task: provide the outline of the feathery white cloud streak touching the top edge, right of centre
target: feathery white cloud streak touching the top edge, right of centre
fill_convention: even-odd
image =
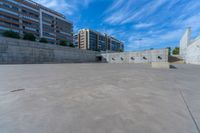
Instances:
[[[115,3],[112,5],[108,11],[110,11],[111,15],[109,14],[105,18],[105,22],[109,24],[126,24],[133,22],[134,20],[138,20],[142,17],[146,17],[150,14],[153,14],[157,9],[168,2],[167,0],[156,0],[156,1],[150,1],[149,3],[144,4],[140,9],[136,9],[135,7],[135,1],[134,0],[127,0],[122,3],[122,0],[120,0],[120,3],[123,5],[119,5],[118,3]],[[121,9],[114,10],[116,8],[121,7]]]

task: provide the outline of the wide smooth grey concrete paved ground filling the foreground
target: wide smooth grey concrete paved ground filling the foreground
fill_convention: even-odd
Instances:
[[[0,66],[0,133],[199,133],[198,127],[200,66]]]

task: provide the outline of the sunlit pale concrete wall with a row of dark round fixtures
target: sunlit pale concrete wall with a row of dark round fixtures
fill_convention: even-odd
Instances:
[[[147,50],[142,52],[101,54],[108,63],[151,63],[168,62],[168,50]]]

